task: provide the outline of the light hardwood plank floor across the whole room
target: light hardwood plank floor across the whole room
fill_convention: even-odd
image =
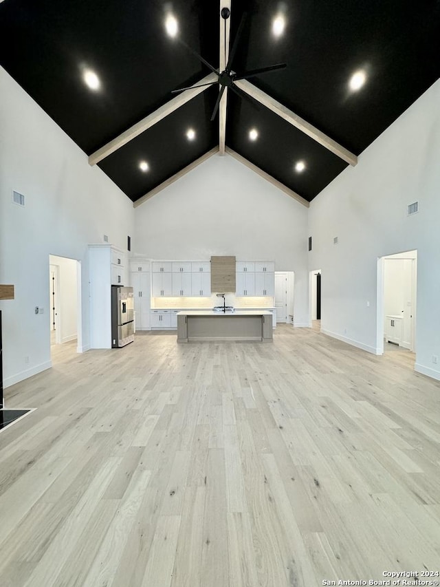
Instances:
[[[6,389],[1,587],[315,587],[439,570],[440,385],[281,325],[53,348]]]

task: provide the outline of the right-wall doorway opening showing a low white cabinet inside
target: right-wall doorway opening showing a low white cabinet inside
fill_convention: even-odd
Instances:
[[[378,268],[377,352],[415,352],[417,250],[381,257]]]

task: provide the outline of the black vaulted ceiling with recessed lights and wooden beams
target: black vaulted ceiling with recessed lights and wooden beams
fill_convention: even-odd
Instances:
[[[222,71],[243,14],[232,72],[287,67],[237,81],[211,121],[218,83],[171,92],[217,79],[190,49]],[[219,145],[310,202],[439,78],[439,57],[439,0],[0,0],[0,64],[133,202]]]

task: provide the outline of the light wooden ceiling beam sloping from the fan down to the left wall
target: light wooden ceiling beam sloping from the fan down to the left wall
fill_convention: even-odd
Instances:
[[[151,114],[148,114],[148,116],[142,118],[142,120],[140,120],[139,122],[136,122],[135,125],[124,131],[116,138],[113,138],[113,140],[111,140],[110,142],[107,142],[107,145],[104,145],[104,147],[101,147],[100,149],[98,149],[98,151],[91,153],[91,156],[89,156],[89,164],[96,165],[97,163],[102,161],[102,159],[105,159],[106,157],[111,155],[111,153],[114,153],[115,151],[120,149],[120,147],[126,145],[127,142],[130,142],[133,138],[142,134],[144,131],[146,131],[146,129],[153,127],[153,125],[159,122],[159,120],[162,120],[163,118],[168,116],[168,114],[171,114],[172,112],[177,110],[177,108],[180,108],[181,106],[189,102],[189,100],[192,100],[192,98],[195,98],[195,96],[198,96],[199,94],[201,94],[201,92],[204,92],[206,89],[211,87],[210,85],[197,87],[198,85],[202,83],[216,82],[217,79],[218,78],[216,74],[209,74],[208,76],[204,77],[203,79],[192,85],[191,89],[187,89],[185,92],[177,94],[175,98],[173,98],[166,104],[162,105],[161,107],[157,108],[157,110],[155,110]]]

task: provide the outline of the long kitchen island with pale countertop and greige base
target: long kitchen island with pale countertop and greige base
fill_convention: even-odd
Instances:
[[[177,342],[272,342],[272,313],[267,310],[182,311],[177,314]]]

